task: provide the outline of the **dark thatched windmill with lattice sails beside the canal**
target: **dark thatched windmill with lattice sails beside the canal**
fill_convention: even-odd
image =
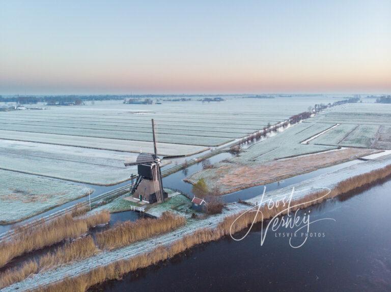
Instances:
[[[135,183],[132,183],[130,190],[131,196],[140,201],[148,201],[150,204],[164,202],[167,193],[163,190],[160,165],[161,160],[169,158],[168,156],[159,158],[157,156],[155,123],[152,119],[152,136],[154,154],[140,153],[135,161],[126,161],[125,166],[137,166],[137,177]]]

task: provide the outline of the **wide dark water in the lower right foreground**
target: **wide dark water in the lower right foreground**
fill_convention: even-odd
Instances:
[[[278,235],[297,228],[268,231],[261,246],[259,223],[242,241],[202,244],[90,291],[390,291],[390,209],[388,180],[299,211],[335,220],[311,224],[300,248]]]

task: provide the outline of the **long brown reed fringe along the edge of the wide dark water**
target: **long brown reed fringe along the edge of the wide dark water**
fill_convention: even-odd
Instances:
[[[293,207],[290,210],[293,211],[297,208],[305,208],[310,205],[320,203],[328,198],[336,197],[339,194],[349,192],[365,185],[376,183],[377,181],[384,179],[390,175],[391,165],[388,165],[382,169],[354,176],[338,183],[336,187],[334,187],[331,192],[327,194],[327,196],[325,196],[327,192],[318,191],[311,193],[309,194],[309,196],[305,196],[304,198],[295,200],[294,202],[292,202],[293,204],[291,205],[296,205],[296,207]],[[273,209],[263,207],[263,219],[265,220],[271,218],[275,214],[282,212],[285,208],[286,207],[282,205]],[[238,217],[239,219],[237,219]],[[83,292],[86,291],[89,287],[92,287],[104,281],[121,279],[121,277],[126,273],[157,264],[158,262],[170,258],[195,245],[218,240],[219,238],[230,233],[233,234],[235,232],[241,231],[242,229],[246,228],[248,224],[252,223],[253,220],[254,214],[250,212],[241,212],[235,215],[231,215],[226,217],[220,224],[217,225],[215,229],[203,229],[196,231],[191,235],[185,236],[175,241],[168,248],[164,246],[158,246],[151,252],[135,256],[131,259],[117,261],[107,266],[100,266],[86,274],[82,274],[73,278],[65,278],[62,281],[50,284],[48,286],[39,287],[35,290],[40,292]],[[258,220],[256,221],[260,220],[261,217],[258,216]]]

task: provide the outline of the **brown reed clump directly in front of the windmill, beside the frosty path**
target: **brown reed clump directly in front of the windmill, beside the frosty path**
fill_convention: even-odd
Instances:
[[[99,248],[114,249],[174,230],[184,224],[186,224],[184,217],[164,212],[157,219],[146,218],[119,223],[109,230],[97,233],[95,238]]]

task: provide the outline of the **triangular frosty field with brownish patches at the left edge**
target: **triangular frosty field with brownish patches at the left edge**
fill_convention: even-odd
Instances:
[[[0,223],[20,221],[85,196],[90,189],[71,182],[0,170]]]

